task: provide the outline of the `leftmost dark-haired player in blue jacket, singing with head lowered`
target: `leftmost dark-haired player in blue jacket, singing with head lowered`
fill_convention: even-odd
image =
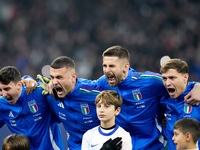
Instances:
[[[36,88],[26,94],[21,74],[14,66],[0,70],[0,127],[8,126],[12,133],[23,134],[30,141],[31,150],[64,150],[59,124],[51,115],[47,99]]]

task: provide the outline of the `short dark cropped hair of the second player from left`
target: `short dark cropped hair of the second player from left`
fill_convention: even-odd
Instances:
[[[75,69],[75,62],[67,56],[60,56],[53,60],[51,67],[54,69],[60,69],[63,67]]]

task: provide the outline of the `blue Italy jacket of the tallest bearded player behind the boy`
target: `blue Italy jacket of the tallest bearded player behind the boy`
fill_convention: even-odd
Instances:
[[[109,87],[106,77],[97,80],[99,88],[114,89],[123,99],[116,123],[128,131],[132,137],[133,150],[161,150],[160,130],[156,117],[159,114],[159,100],[167,94],[160,74],[135,72],[129,74],[117,87]]]

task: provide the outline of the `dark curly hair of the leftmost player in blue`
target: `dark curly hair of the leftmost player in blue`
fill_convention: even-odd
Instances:
[[[0,70],[0,82],[2,84],[9,84],[14,82],[15,84],[21,81],[21,73],[15,66],[6,66]]]

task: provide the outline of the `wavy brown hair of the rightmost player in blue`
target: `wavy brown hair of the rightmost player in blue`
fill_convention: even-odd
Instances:
[[[176,69],[178,73],[188,73],[188,64],[181,59],[170,59],[160,68],[161,73],[166,73],[169,69]]]

